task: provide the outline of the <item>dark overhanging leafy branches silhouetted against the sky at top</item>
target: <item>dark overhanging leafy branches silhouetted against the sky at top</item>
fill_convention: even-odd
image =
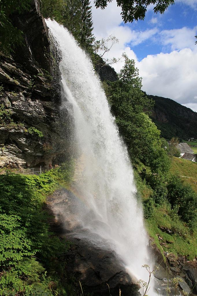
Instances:
[[[96,8],[105,9],[112,0],[95,0]],[[134,20],[143,20],[145,18],[147,7],[154,5],[155,13],[164,13],[169,5],[174,4],[175,0],[117,0],[117,6],[122,9],[121,15],[123,21],[133,22]]]

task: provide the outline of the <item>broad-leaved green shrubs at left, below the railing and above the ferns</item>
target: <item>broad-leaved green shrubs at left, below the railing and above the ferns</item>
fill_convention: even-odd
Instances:
[[[40,180],[38,176],[0,176],[2,267],[13,266],[22,258],[36,253],[50,258],[60,251],[59,239],[51,237],[47,214],[42,210],[44,197],[41,192],[52,192],[50,183],[54,186],[54,181],[48,176],[41,176]]]

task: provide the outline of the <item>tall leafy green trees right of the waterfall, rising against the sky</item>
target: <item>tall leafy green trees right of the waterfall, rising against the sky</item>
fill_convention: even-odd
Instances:
[[[142,79],[134,60],[125,56],[119,80],[111,83],[109,103],[134,164],[143,163],[152,172],[169,168],[167,152],[162,148],[160,131],[149,118],[152,100],[141,91]]]

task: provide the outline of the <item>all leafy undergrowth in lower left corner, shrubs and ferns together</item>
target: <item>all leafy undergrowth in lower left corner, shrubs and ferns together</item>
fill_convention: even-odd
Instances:
[[[0,175],[0,295],[72,295],[61,258],[70,243],[50,232],[43,210],[71,172],[65,164],[40,176]]]

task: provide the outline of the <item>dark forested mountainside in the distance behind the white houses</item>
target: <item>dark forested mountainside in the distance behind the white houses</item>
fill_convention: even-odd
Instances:
[[[178,137],[180,141],[197,138],[197,113],[161,96],[148,95],[154,101],[152,120],[167,140]]]

